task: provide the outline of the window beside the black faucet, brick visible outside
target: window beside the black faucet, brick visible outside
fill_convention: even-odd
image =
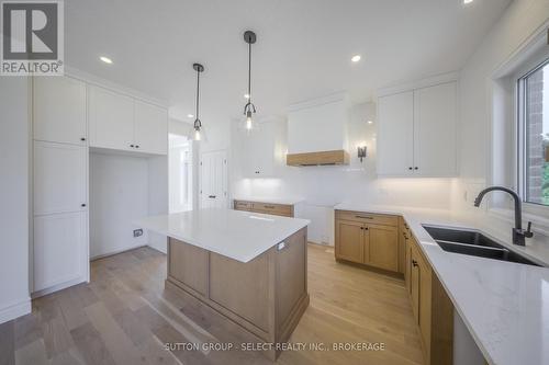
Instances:
[[[518,183],[527,203],[549,205],[549,59],[517,81]]]

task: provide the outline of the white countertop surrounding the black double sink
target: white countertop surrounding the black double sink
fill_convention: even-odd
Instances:
[[[490,364],[549,364],[548,267],[444,251],[422,224],[471,227],[453,218],[449,210],[356,203],[338,204],[334,208],[403,216]],[[491,235],[489,227],[471,228],[480,228]],[[508,243],[505,246],[528,252],[534,259],[535,254],[528,247],[517,249]],[[542,254],[536,261],[549,265],[545,251],[536,249],[536,252]]]

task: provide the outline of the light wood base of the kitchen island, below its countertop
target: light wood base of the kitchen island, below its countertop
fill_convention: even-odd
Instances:
[[[284,343],[309,306],[306,228],[243,263],[169,239],[166,287],[190,294],[253,334]],[[276,360],[280,350],[267,350]]]

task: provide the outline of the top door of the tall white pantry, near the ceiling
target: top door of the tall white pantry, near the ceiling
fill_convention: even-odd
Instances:
[[[33,82],[34,139],[86,146],[86,83],[68,77]]]

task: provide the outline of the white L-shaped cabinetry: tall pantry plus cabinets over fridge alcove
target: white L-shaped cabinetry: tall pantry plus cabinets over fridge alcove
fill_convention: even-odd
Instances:
[[[166,107],[71,77],[33,80],[33,296],[89,281],[89,152],[167,155]],[[89,132],[89,133],[88,133]]]

